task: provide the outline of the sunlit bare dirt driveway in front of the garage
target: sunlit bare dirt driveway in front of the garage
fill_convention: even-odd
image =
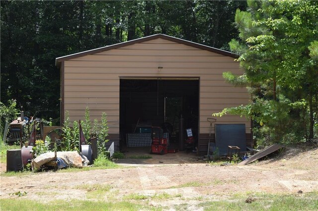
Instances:
[[[0,198],[17,198],[10,194],[25,191],[27,199],[42,202],[87,199],[87,190],[80,187],[100,184],[111,187],[103,196],[105,200],[114,195],[116,200],[121,200],[130,194],[166,193],[182,196],[182,199],[167,200],[166,205],[184,204],[186,200],[189,206],[194,206],[190,210],[197,210],[199,208],[195,206],[199,201],[226,199],[233,194],[292,194],[299,190],[318,190],[318,148],[289,148],[276,158],[246,166],[213,165],[197,160],[195,155],[174,156],[171,160],[153,156],[143,160],[142,164],[136,164],[134,159],[127,159],[130,163],[120,160],[122,165],[133,166],[130,168],[1,176]],[[51,193],[50,197],[44,193]],[[150,203],[157,206],[156,201]]]

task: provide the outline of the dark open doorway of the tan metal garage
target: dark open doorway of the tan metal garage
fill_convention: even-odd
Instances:
[[[198,140],[198,118],[199,78],[120,79],[121,146],[151,147],[151,128],[161,127],[168,149],[184,150],[186,129]]]

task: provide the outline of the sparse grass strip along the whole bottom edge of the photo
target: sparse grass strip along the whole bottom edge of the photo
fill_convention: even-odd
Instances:
[[[19,199],[0,199],[1,209],[3,210],[65,210],[65,211],[76,211],[76,210],[161,210],[160,205],[151,205],[149,200],[156,200],[164,205],[166,200],[173,200],[175,198],[182,197],[181,194],[170,195],[166,193],[155,194],[154,196],[148,196],[143,194],[129,194],[124,196],[123,200],[107,202],[101,200],[104,198],[103,194],[96,194],[96,191],[103,190],[103,193],[107,193],[107,187],[79,187],[87,188],[93,192],[96,196],[93,201],[91,200],[54,200],[51,202],[37,202],[27,200],[25,197],[21,196]],[[24,199],[23,199],[24,198]],[[250,203],[246,202],[246,199],[251,199]],[[214,210],[233,210],[233,211],[301,211],[301,210],[317,210],[318,209],[318,193],[303,193],[301,195],[291,194],[291,195],[281,195],[281,194],[247,194],[239,193],[230,198],[223,198],[217,200],[207,200],[202,197],[196,197],[195,200],[201,203],[196,205],[196,208],[203,208],[206,211]],[[132,201],[133,200],[133,201]],[[182,208],[187,209],[189,206],[193,209],[193,205],[190,203],[185,203],[175,207],[176,210]],[[166,209],[169,209],[168,207]]]

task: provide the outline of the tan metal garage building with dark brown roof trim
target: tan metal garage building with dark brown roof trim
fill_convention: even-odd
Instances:
[[[211,113],[247,104],[244,87],[225,82],[222,73],[241,74],[236,54],[157,34],[112,46],[56,58],[61,70],[61,121],[90,109],[91,118],[107,112],[109,139],[126,145],[136,126],[168,122],[177,137],[180,117],[198,139],[198,154],[207,151]],[[250,121],[239,116],[217,118],[218,124],[245,124],[252,145]],[[214,141],[214,125],[212,141]]]

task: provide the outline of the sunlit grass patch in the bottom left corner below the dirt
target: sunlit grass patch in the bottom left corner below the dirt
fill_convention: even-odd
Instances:
[[[106,201],[90,201],[90,200],[54,200],[52,202],[36,202],[26,199],[0,199],[1,210],[17,211],[119,211],[119,210],[157,210],[149,205],[141,205],[131,202],[106,202]]]

